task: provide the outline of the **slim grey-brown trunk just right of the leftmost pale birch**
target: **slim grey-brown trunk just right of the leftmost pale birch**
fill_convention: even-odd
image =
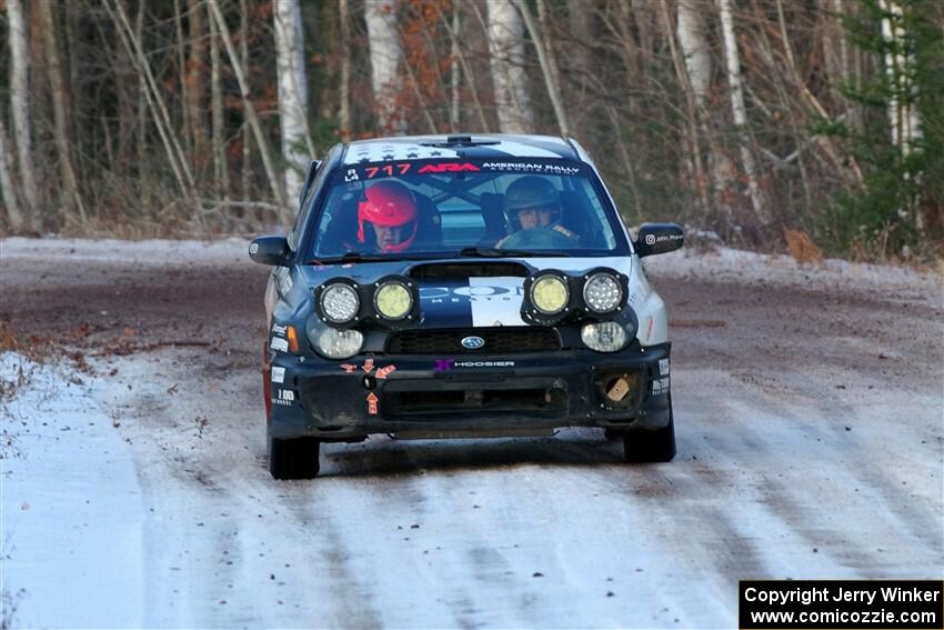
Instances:
[[[82,203],[82,197],[79,193],[79,183],[72,167],[69,123],[66,117],[66,82],[62,78],[62,66],[59,59],[59,49],[56,44],[58,39],[56,34],[56,22],[52,19],[52,9],[54,6],[51,2],[38,2],[37,7],[42,22],[46,67],[49,74],[49,83],[52,88],[53,136],[56,138],[56,149],[59,153],[59,170],[62,176],[62,183],[66,186],[67,203],[69,206],[72,203],[76,204],[80,221],[86,223],[88,221],[86,206]]]

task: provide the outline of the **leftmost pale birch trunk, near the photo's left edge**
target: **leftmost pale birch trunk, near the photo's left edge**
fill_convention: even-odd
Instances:
[[[23,6],[20,0],[7,0],[7,22],[10,34],[10,110],[13,118],[13,142],[17,147],[20,182],[30,227],[40,232],[42,221],[39,216],[30,131],[30,56]]]

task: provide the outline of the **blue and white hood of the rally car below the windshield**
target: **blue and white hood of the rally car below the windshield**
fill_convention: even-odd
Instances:
[[[358,283],[375,282],[389,276],[409,277],[410,270],[431,263],[490,263],[516,262],[531,272],[558,269],[580,273],[607,267],[627,277],[632,276],[630,257],[609,258],[525,258],[525,259],[462,259],[360,262],[354,264],[305,266],[300,272],[312,288],[333,278],[351,278]],[[521,319],[524,298],[524,278],[488,276],[470,278],[426,278],[415,280],[420,288],[420,328],[479,328],[494,326],[525,326]]]

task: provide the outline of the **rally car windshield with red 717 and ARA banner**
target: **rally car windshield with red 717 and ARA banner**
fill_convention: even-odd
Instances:
[[[313,261],[627,252],[602,184],[581,162],[366,162],[332,177],[310,232]]]

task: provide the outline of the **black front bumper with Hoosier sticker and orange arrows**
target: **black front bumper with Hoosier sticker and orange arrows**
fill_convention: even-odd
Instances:
[[[345,361],[280,353],[270,368],[281,382],[271,382],[269,436],[344,441],[370,433],[659,429],[670,419],[670,343],[633,343],[612,354],[574,349],[505,357],[359,354]]]

